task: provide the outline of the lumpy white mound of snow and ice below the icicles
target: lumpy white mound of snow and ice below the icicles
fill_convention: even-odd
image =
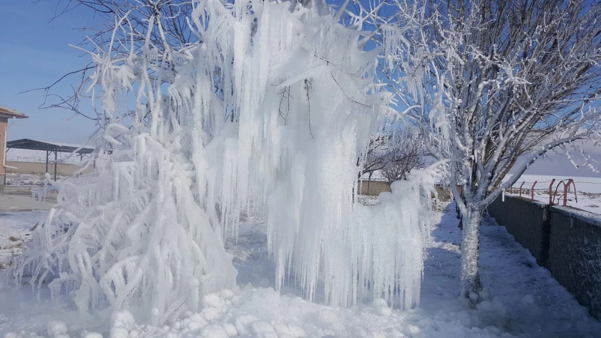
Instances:
[[[163,327],[118,324],[111,337],[497,337],[496,328],[468,328],[459,319],[391,310],[386,301],[353,309],[320,306],[273,289],[222,290],[203,298],[200,313]],[[118,333],[118,334],[117,334]]]

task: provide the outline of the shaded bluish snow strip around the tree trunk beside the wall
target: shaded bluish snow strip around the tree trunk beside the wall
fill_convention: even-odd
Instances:
[[[538,266],[505,227],[485,217],[481,228],[480,277],[485,300],[466,310],[456,300],[462,232],[454,204],[436,213],[428,250],[421,309],[432,318],[496,328],[525,337],[601,337],[601,324],[578,304],[551,272]]]

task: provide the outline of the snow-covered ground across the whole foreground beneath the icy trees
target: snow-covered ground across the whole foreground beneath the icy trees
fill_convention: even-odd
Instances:
[[[16,214],[0,215],[0,227],[26,230],[44,212]],[[238,240],[227,242],[239,287],[206,295],[200,313],[161,327],[136,323],[128,312],[82,318],[66,301],[50,301],[45,290],[37,301],[29,287],[0,284],[0,337],[601,337],[601,324],[587,309],[490,219],[481,239],[484,301],[467,309],[457,299],[461,230],[454,206],[433,211],[433,224],[418,309],[389,309],[382,300],[323,306],[299,298],[293,284],[275,292],[266,225],[248,220]]]

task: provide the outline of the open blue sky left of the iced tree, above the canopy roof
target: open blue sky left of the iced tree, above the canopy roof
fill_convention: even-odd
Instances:
[[[66,143],[80,143],[94,130],[93,121],[73,116],[64,109],[37,109],[43,103],[42,91],[18,94],[32,88],[46,87],[64,74],[84,67],[87,55],[69,46],[85,35],[75,28],[93,22],[90,12],[81,8],[50,22],[58,1],[0,1],[0,105],[28,115],[8,130],[8,140],[32,138]],[[71,82],[56,88],[69,93]]]

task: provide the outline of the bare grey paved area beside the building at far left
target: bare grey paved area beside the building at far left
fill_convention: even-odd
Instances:
[[[41,186],[4,186],[0,187],[0,212],[50,210],[56,203],[56,191],[46,192],[42,200],[32,198],[32,189],[41,190]]]

